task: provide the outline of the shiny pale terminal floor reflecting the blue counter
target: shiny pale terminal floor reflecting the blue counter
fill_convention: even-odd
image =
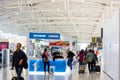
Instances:
[[[15,72],[13,72],[14,74]],[[14,74],[15,75],[15,74]],[[25,77],[25,72],[23,72],[23,76]],[[0,69],[0,78],[2,80],[10,80],[12,77],[11,71],[9,68]],[[1,80],[1,79],[0,79]],[[101,73],[88,73],[79,74],[77,67],[74,66],[74,69],[71,73],[67,75],[29,75],[28,79],[25,80],[111,80],[107,75],[103,72]]]

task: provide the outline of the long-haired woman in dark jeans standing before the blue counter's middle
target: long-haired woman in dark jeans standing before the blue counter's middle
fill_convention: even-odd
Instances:
[[[45,48],[42,53],[42,59],[44,62],[44,72],[46,74],[46,65],[48,65],[48,74],[50,74],[50,62],[49,62],[49,54],[47,52],[47,49]]]

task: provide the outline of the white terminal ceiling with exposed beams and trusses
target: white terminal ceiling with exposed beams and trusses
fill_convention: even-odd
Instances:
[[[0,30],[55,32],[90,42],[119,7],[119,0],[0,0]]]

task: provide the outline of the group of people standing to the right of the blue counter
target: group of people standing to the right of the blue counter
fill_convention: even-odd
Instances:
[[[72,70],[72,61],[74,59],[75,54],[72,51],[68,51],[67,54],[68,66]],[[98,58],[94,50],[90,49],[89,51],[84,51],[82,49],[76,55],[76,59],[79,62],[79,68],[81,65],[88,64],[89,72],[95,71],[96,63],[98,63]]]

